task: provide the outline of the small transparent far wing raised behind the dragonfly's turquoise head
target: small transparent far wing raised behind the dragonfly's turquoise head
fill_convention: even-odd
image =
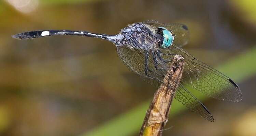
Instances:
[[[174,34],[173,43],[176,46],[182,47],[188,43],[189,40],[189,31],[186,25],[180,23],[162,23],[154,20],[144,21],[144,24],[149,25],[150,27],[154,27],[153,29],[157,29],[159,27],[165,27],[169,31],[172,31]]]

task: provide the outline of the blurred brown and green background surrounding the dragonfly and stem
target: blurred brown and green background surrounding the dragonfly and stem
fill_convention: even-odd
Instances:
[[[101,39],[54,36],[16,40],[32,30],[117,34],[134,22],[184,23],[184,47],[238,83],[243,101],[193,91],[209,122],[174,101],[164,136],[256,135],[255,0],[1,0],[0,135],[136,136],[157,88]],[[168,129],[169,128],[169,129]]]

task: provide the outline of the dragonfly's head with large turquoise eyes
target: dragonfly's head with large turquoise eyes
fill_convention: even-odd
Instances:
[[[157,28],[157,33],[162,36],[162,39],[159,41],[158,46],[162,48],[168,48],[172,45],[174,40],[174,35],[171,31],[164,27]]]

